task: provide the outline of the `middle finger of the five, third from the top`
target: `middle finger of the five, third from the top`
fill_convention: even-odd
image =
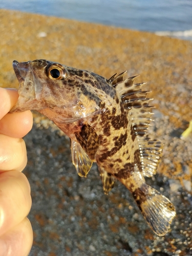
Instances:
[[[26,164],[25,141],[0,134],[0,172],[13,169],[22,171]]]

